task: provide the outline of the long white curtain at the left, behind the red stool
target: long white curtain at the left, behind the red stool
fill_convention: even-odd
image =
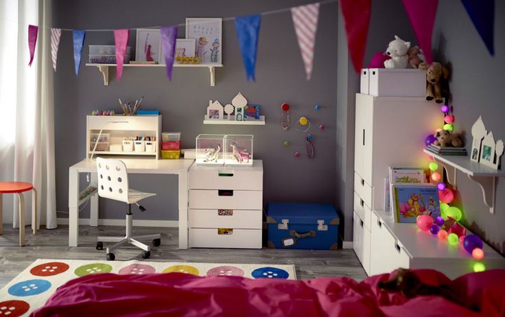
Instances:
[[[32,67],[30,24],[39,27]],[[0,181],[32,183],[40,224],[56,228],[51,0],[0,1],[0,162]],[[26,224],[32,221],[31,195],[25,193]],[[7,196],[3,223],[18,228],[15,195]]]

